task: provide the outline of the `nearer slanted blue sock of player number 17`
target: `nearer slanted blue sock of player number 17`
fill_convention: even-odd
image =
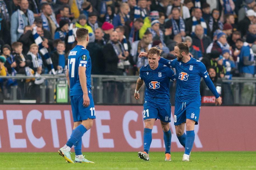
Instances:
[[[81,145],[82,145],[82,136],[84,135],[84,133],[87,131],[87,129],[82,125],[78,125],[76,127],[76,129],[74,129],[72,131],[72,134],[69,138],[69,140],[67,141],[66,145],[69,147],[72,147],[73,145],[75,145],[78,141],[81,141]],[[78,147],[79,144],[76,144],[76,147]],[[81,147],[80,147],[81,148]]]

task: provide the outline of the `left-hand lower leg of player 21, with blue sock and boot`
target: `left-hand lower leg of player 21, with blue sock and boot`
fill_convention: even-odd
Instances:
[[[154,126],[154,122],[156,119],[145,119],[145,128],[143,133],[143,146],[144,146],[144,152],[138,152],[138,156],[140,159],[143,159],[145,161],[149,161],[149,148],[152,142],[152,129]]]

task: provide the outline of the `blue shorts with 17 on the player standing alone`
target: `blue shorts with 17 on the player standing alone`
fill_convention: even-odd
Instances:
[[[90,98],[90,105],[88,107],[83,106],[83,95],[70,96],[72,115],[74,122],[81,120],[95,119],[95,107],[92,95],[88,94]]]

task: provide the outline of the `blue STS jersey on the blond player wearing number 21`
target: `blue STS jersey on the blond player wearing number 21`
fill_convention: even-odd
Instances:
[[[170,80],[176,80],[172,69],[161,63],[155,70],[145,65],[140,68],[140,79],[146,85],[145,102],[149,101],[157,106],[170,106]]]

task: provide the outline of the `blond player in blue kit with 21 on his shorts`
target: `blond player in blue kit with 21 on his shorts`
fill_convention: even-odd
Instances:
[[[149,64],[140,68],[140,77],[137,80],[134,97],[138,100],[139,89],[145,82],[145,101],[143,120],[145,123],[143,143],[144,152],[138,152],[140,159],[149,161],[149,148],[152,142],[152,129],[156,119],[160,119],[164,133],[165,161],[171,161],[170,149],[172,133],[170,130],[171,104],[170,80],[175,81],[176,75],[168,66],[158,63],[162,50],[156,47],[148,51]]]

